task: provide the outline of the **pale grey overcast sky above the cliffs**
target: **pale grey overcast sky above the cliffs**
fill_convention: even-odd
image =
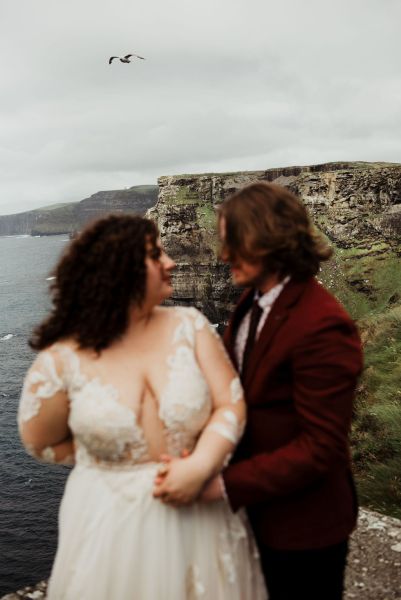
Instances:
[[[0,214],[160,175],[401,162],[401,0],[0,0]],[[131,64],[111,55],[138,53]]]

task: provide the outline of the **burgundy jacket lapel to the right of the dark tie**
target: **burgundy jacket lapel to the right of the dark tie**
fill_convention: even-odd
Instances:
[[[249,357],[247,373],[243,382],[247,389],[249,389],[250,382],[254,379],[256,370],[266,356],[275,335],[287,320],[291,307],[297,302],[309,281],[294,282],[291,279],[273,304]]]

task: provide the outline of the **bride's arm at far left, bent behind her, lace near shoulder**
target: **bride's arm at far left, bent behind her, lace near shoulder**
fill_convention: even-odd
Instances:
[[[20,436],[39,460],[72,464],[74,445],[68,427],[69,402],[58,355],[41,352],[29,369],[18,410]]]

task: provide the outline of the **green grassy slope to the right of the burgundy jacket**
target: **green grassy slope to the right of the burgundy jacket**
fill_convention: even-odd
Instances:
[[[387,250],[387,251],[386,251]],[[356,319],[365,370],[352,449],[361,504],[401,518],[401,261],[373,245],[338,250],[319,279]]]

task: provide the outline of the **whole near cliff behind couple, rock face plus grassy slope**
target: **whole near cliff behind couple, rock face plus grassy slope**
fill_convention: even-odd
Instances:
[[[357,321],[365,372],[353,422],[362,503],[401,518],[401,164],[329,163],[159,178],[148,212],[177,262],[173,303],[224,323],[237,291],[217,259],[216,209],[253,181],[288,187],[334,248],[319,280]]]

